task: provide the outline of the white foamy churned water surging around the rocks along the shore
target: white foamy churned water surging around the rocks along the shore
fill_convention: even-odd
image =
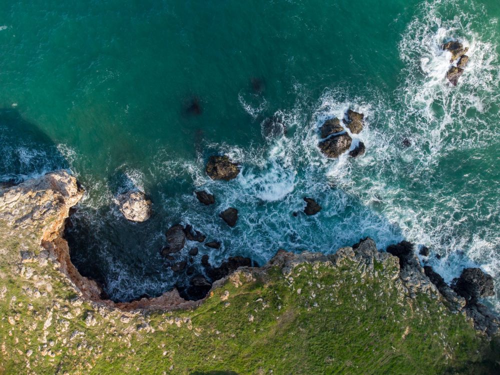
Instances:
[[[442,15],[450,9],[456,14],[452,19]],[[448,0],[420,6],[400,35],[404,68],[391,97],[376,87],[356,96],[346,84],[325,87],[311,105],[308,92],[296,82],[296,104],[275,113],[286,126],[284,136],[247,147],[203,142],[193,159],[159,146],[146,169],[125,162],[108,170],[113,176],[109,180],[85,176],[75,165],[78,156],[66,145],[57,146],[62,155],[57,158],[28,143],[10,149],[2,142],[2,152],[15,160],[14,166],[3,166],[2,179],[22,180],[62,165],[86,180],[87,193],[69,231],[70,244],[84,248],[71,256],[84,274],[97,269],[96,278],[101,277],[115,300],[158,295],[182,284],[185,275],[175,275],[159,255],[165,230],[177,222],[193,225],[207,240],[222,242],[221,249],[214,250],[187,241],[179,260],[194,246],[209,254],[212,264],[234,255],[263,264],[279,248],[332,253],[370,236],[384,250],[407,239],[416,251],[422,245],[430,248],[430,256],[421,260],[446,281],[465,266],[480,266],[493,275],[498,295],[498,27],[497,19],[478,27],[485,14],[479,5],[474,9],[464,13],[459,1]],[[450,54],[440,48],[452,38],[469,47],[470,57],[456,87],[445,78]],[[260,94],[240,92],[235,100],[253,119],[271,105]],[[327,159],[317,148],[318,127],[325,119],[341,119],[349,108],[365,115],[364,129],[351,134],[351,149],[362,141],[366,153]],[[403,139],[411,145],[404,147]],[[235,180],[206,176],[204,163],[213,153],[241,163]],[[174,183],[183,187],[182,193],[175,191]],[[147,192],[147,186],[159,191],[153,196],[155,214],[149,222],[126,222],[113,196],[131,188]],[[198,189],[214,194],[216,203],[200,204],[193,194]],[[304,196],[317,200],[320,213],[294,217],[294,211],[303,210]],[[239,210],[234,228],[218,217],[229,206]],[[94,262],[96,253],[99,262]],[[199,256],[195,265],[203,272]],[[491,297],[487,302],[500,310],[499,300]]]

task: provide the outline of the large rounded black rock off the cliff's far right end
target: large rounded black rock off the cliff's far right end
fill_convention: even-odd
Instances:
[[[451,281],[451,288],[466,301],[495,295],[493,277],[480,268],[465,268],[460,277]]]

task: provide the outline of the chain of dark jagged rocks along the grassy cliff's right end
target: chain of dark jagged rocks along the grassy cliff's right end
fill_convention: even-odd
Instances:
[[[430,265],[420,265],[420,261],[413,250],[413,244],[401,241],[387,246],[386,251],[399,258],[400,277],[415,293],[428,289],[432,283],[442,295],[444,302],[451,311],[463,311],[470,317],[476,329],[489,335],[494,334],[500,327],[498,318],[482,303],[479,298],[493,296],[494,285],[491,275],[484,273],[480,268],[464,268],[459,277],[454,278],[448,285],[440,274]],[[420,253],[427,253],[428,248],[420,249]],[[426,256],[427,256],[426,255]],[[424,277],[425,276],[425,277]]]

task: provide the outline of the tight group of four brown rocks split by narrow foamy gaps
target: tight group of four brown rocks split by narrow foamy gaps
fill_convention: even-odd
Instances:
[[[355,112],[351,109],[347,110],[342,119],[344,125],[352,134],[359,134],[364,126],[364,114]],[[351,144],[352,138],[340,124],[338,118],[329,118],[319,127],[321,139],[318,147],[321,152],[331,158],[340,156],[347,151]],[[349,152],[351,157],[362,155],[365,151],[364,143],[359,141],[356,147]]]

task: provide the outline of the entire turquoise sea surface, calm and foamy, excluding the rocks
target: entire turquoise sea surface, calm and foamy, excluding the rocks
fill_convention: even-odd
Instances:
[[[159,256],[177,222],[222,241],[199,246],[214,264],[407,238],[429,246],[446,280],[476,264],[500,291],[497,1],[2,5],[1,179],[58,167],[77,175],[87,194],[68,231],[71,257],[113,299],[184,282]],[[449,38],[469,46],[456,87],[438,47]],[[198,115],[186,111],[193,100]],[[367,151],[328,160],[317,127],[348,108],[365,113],[354,143]],[[263,136],[273,114],[286,136]],[[211,181],[204,162],[222,152],[242,173]],[[132,186],[153,201],[145,223],[113,203]],[[197,202],[200,188],[215,205]],[[323,209],[292,216],[305,195]],[[229,205],[240,212],[232,229],[217,216]]]

